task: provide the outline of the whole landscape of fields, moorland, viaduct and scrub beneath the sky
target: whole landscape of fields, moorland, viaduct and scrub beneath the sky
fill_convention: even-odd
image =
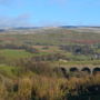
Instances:
[[[83,30],[0,32],[0,100],[100,100],[100,33]]]

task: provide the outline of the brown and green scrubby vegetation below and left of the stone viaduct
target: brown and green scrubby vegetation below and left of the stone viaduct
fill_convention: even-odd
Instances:
[[[21,58],[1,63],[0,100],[74,100],[79,96],[100,99],[100,74],[69,76],[54,71],[50,61]]]

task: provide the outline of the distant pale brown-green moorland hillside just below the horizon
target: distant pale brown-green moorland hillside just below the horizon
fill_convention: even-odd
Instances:
[[[39,28],[6,30],[0,32],[0,41],[32,44],[68,44],[68,43],[100,43],[98,28]],[[18,36],[20,34],[20,36]]]

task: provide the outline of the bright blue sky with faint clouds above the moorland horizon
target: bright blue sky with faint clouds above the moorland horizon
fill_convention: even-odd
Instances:
[[[0,27],[100,26],[100,0],[0,0]]]

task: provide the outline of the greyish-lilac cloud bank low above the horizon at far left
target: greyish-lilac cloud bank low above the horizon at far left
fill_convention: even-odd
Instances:
[[[23,13],[19,14],[16,18],[12,17],[0,17],[0,28],[10,28],[10,27],[32,27],[30,22],[30,14]]]

